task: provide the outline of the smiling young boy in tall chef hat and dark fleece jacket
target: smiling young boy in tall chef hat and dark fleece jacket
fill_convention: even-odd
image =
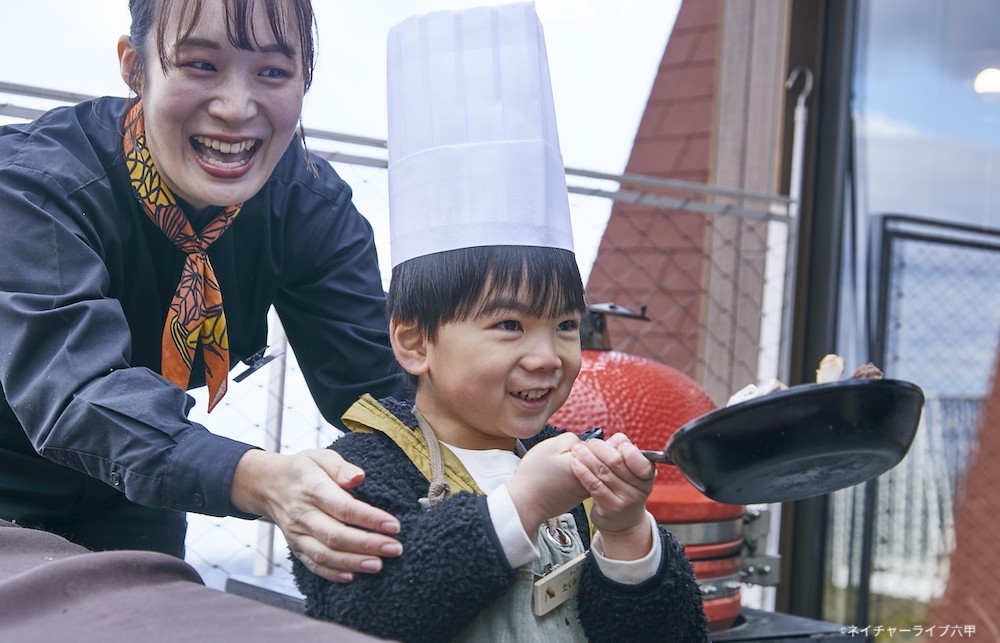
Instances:
[[[344,584],[299,552],[307,613],[403,641],[707,640],[683,549],[645,511],[653,466],[622,434],[546,425],[586,305],[532,5],[410,19],[389,72],[390,339],[415,395],[362,398],[331,448],[404,551]]]

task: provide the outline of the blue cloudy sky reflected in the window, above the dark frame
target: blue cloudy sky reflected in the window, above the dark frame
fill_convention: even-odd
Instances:
[[[1000,3],[862,3],[856,59],[858,208],[1000,227]],[[1000,71],[997,72],[1000,76]],[[987,74],[989,76],[989,74]]]

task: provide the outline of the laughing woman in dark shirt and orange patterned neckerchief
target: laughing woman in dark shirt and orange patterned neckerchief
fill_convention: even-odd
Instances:
[[[0,518],[182,556],[183,512],[260,515],[330,580],[376,572],[399,527],[344,491],[360,469],[187,419],[184,390],[217,404],[272,304],[328,420],[399,385],[371,228],[293,140],[310,2],[129,8],[132,100],[0,129]]]

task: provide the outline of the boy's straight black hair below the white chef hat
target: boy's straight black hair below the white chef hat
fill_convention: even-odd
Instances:
[[[392,269],[389,319],[415,323],[433,340],[442,324],[482,312],[497,295],[528,303],[527,314],[556,317],[587,310],[576,256],[534,246],[483,246],[405,261]]]

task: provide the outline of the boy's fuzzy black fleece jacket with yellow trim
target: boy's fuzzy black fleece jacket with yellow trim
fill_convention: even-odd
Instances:
[[[407,426],[417,426],[409,404],[392,399],[380,403]],[[546,427],[525,446],[530,449],[558,433]],[[364,482],[352,493],[399,518],[403,555],[386,558],[380,573],[358,574],[346,584],[314,575],[291,556],[308,615],[390,639],[447,641],[513,584],[514,570],[493,530],[485,496],[459,492],[423,508],[418,499],[427,495],[427,479],[378,431],[347,434],[330,448],[365,470]],[[589,547],[583,506],[573,514]],[[588,555],[578,609],[589,641],[708,640],[708,621],[691,565],[673,535],[660,528],[660,537],[660,567],[638,585],[608,579]]]

